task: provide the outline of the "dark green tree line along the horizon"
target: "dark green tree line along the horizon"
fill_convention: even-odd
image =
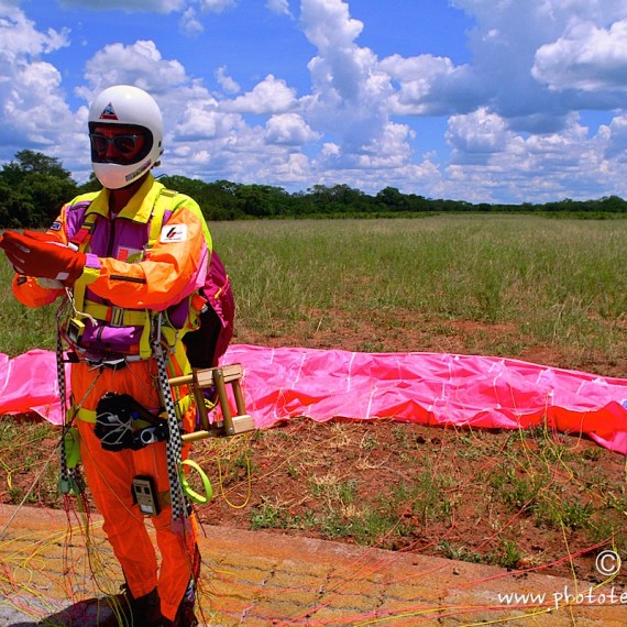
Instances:
[[[564,199],[521,205],[472,204],[426,198],[385,187],[375,195],[348,185],[314,185],[307,191],[288,193],[271,185],[243,185],[229,180],[206,183],[185,176],[161,176],[169,189],[191,196],[208,220],[250,218],[377,218],[411,217],[440,212],[543,212],[556,217],[608,217],[627,213],[627,201],[617,196],[597,200]],[[78,185],[59,160],[23,150],[0,169],[0,228],[47,227],[64,202],[95,191],[94,177]]]

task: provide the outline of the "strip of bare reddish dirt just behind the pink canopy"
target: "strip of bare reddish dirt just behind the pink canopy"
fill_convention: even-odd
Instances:
[[[624,337],[624,336],[622,336]],[[606,354],[560,344],[539,345],[514,323],[430,318],[415,311],[326,309],[307,312],[273,332],[246,328],[235,343],[308,346],[362,352],[433,352],[494,355],[579,370],[603,376],[627,376],[627,353]]]

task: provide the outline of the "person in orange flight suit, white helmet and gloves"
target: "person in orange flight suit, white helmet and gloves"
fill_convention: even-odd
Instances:
[[[197,521],[188,513],[184,531],[172,522],[166,442],[134,447],[132,430],[111,433],[107,424],[99,425],[99,415],[110,416],[106,403],[112,395],[122,404],[130,399],[146,416],[163,410],[151,350],[155,315],[163,320],[168,375],[190,372],[183,337],[198,326],[206,305],[200,288],[211,237],[198,205],[185,195],[168,196],[151,173],[163,152],[163,120],[148,94],[127,85],[105,89],[90,107],[88,127],[102,189],[66,204],[45,233],[7,231],[0,248],[16,272],[13,292],[21,302],[40,307],[69,295],[72,307],[61,324],[74,362],[68,415],[125,581],[110,624],[194,626]],[[196,410],[185,404],[185,386],[179,389],[172,391],[173,400],[182,430],[190,432]],[[132,493],[138,476],[150,477],[160,503],[152,521],[161,564]]]

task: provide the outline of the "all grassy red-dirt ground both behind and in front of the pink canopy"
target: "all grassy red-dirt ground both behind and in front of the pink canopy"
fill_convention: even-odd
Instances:
[[[627,220],[210,228],[238,301],[234,343],[492,354],[627,376]],[[0,352],[52,349],[54,309],[15,304],[2,262]],[[51,431],[3,424],[4,502],[58,506]],[[32,454],[15,458],[16,446]],[[627,551],[625,460],[578,435],[295,420],[195,444],[195,459],[222,488],[200,513],[210,524],[566,575],[575,553],[604,543]],[[592,562],[584,566],[576,574],[590,576]]]

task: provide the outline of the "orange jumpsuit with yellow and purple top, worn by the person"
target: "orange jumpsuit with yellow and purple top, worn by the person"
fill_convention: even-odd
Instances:
[[[154,311],[180,318],[180,312],[175,311],[177,306],[188,304],[206,278],[211,240],[198,206],[186,196],[176,197],[157,241],[147,253],[143,250],[150,239],[151,215],[162,190],[163,185],[148,175],[116,217],[109,215],[107,189],[96,196],[79,197],[63,207],[48,234],[63,243],[75,241],[75,238],[80,239],[76,233],[81,233],[85,216],[88,212],[96,216],[95,226],[82,243],[87,263],[74,285],[75,296],[80,295],[76,309],[90,315],[80,317],[88,327],[85,336],[88,331],[89,339],[84,342],[80,338],[69,345],[79,358],[70,371],[70,415],[78,418],[87,483],[103,516],[103,528],[130,591],[138,598],[157,586],[162,614],[173,620],[190,579],[198,576],[197,524],[191,516],[188,531],[176,532],[172,527],[172,507],[167,505],[152,518],[162,556],[160,568],[144,516],[133,502],[131,490],[133,477],[148,475],[158,493],[168,493],[166,443],[152,443],[138,451],[107,451],[94,435],[96,407],[107,392],[127,393],[156,414],[161,406],[156,361],[142,354],[141,343],[145,341],[142,321],[146,312]],[[48,285],[18,275],[13,292],[21,302],[31,307],[65,296],[64,289]],[[189,308],[187,328],[194,328],[195,314],[194,307]],[[72,316],[75,314],[70,310]],[[121,333],[122,341],[116,340],[116,332]],[[180,341],[184,332],[185,329],[170,329],[168,376],[190,372]],[[111,355],[129,360],[121,369],[99,365],[99,360]],[[188,392],[184,386],[175,389],[179,396]],[[180,419],[183,430],[193,431],[195,408],[182,411]],[[183,457],[186,454],[184,448]]]

